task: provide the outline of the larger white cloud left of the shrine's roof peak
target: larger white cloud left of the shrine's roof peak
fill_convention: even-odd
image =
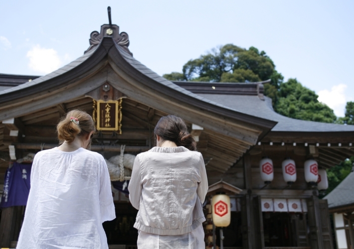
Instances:
[[[52,48],[42,48],[38,44],[27,52],[27,57],[29,58],[29,68],[38,73],[51,73],[62,64],[57,51]]]

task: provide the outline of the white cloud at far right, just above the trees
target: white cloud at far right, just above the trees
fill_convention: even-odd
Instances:
[[[337,117],[344,117],[346,104],[349,99],[346,97],[347,85],[339,84],[333,86],[331,91],[327,89],[322,90],[318,93],[318,101],[325,103],[331,109],[333,109]]]

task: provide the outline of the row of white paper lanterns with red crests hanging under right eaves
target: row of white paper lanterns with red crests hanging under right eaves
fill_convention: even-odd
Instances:
[[[261,178],[265,184],[269,184],[274,179],[273,161],[268,157],[263,157],[259,162]],[[289,185],[296,181],[296,164],[291,158],[286,158],[282,162],[284,181]],[[314,159],[305,161],[305,180],[306,182],[315,185],[317,183],[318,190],[328,188],[327,172],[324,169],[318,168],[318,163]]]

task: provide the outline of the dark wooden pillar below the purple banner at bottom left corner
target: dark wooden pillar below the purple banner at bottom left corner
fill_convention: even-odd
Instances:
[[[9,248],[16,223],[15,207],[3,208],[0,222],[0,248]]]

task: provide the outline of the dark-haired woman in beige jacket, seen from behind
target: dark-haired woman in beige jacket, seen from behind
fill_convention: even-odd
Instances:
[[[157,146],[137,155],[128,190],[139,210],[138,249],[204,249],[204,160],[181,118],[162,117]]]

